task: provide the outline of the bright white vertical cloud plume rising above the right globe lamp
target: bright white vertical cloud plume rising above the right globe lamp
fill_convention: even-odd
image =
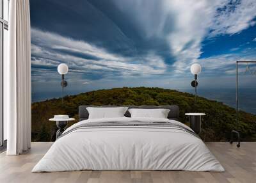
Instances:
[[[177,61],[176,72],[188,70],[202,53],[202,41],[211,25],[216,7],[221,1],[164,1],[170,13],[174,12],[174,31],[168,35],[172,54]]]

